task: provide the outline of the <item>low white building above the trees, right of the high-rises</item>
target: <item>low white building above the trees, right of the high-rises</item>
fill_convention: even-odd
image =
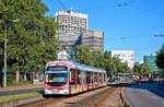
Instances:
[[[133,50],[112,50],[112,57],[119,58],[121,62],[126,62],[130,69],[133,68],[134,63]]]

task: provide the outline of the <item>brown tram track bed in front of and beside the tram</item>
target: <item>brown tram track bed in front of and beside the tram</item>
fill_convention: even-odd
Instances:
[[[120,88],[121,87],[97,88],[78,95],[43,98],[15,107],[117,107],[107,105],[104,102]]]

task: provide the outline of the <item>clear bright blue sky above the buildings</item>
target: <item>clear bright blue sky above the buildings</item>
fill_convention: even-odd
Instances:
[[[134,50],[134,61],[164,44],[164,0],[43,0],[47,15],[62,9],[87,14],[89,29],[104,32],[104,50]]]

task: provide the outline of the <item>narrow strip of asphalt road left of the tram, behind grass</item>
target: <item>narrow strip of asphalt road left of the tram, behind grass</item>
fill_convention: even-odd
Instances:
[[[1,91],[0,96],[4,95],[13,95],[13,94],[25,94],[25,93],[31,93],[31,92],[40,92],[43,91],[43,87],[37,87],[37,88],[26,88],[26,90],[16,90],[16,91]]]

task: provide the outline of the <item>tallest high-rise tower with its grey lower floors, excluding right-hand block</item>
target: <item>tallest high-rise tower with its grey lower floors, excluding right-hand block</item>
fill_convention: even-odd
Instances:
[[[61,47],[71,51],[74,45],[80,44],[82,32],[87,31],[87,14],[61,10],[56,12],[56,22]]]

